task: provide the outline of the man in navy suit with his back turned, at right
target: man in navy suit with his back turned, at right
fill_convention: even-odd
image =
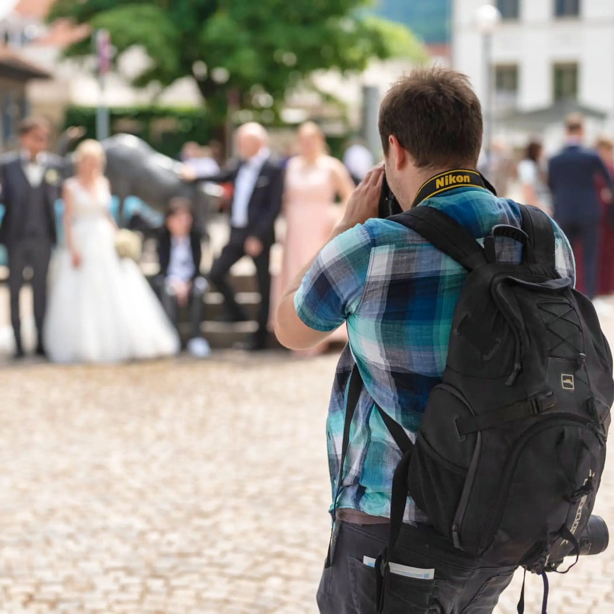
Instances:
[[[570,243],[580,241],[586,295],[597,290],[597,255],[599,253],[600,203],[595,178],[604,178],[610,193],[614,183],[599,155],[582,146],[583,117],[572,114],[565,120],[567,144],[548,164],[548,185],[553,196],[554,219]]]

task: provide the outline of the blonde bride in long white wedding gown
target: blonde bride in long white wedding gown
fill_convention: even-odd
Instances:
[[[64,182],[65,247],[45,321],[52,362],[119,362],[179,351],[174,327],[133,260],[115,251],[111,191],[98,141],[76,150],[77,173]]]

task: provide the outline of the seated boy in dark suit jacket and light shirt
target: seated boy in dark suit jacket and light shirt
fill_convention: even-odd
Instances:
[[[179,309],[189,308],[192,338],[188,350],[199,356],[209,353],[200,330],[203,295],[209,286],[200,274],[200,242],[201,235],[194,227],[190,201],[181,196],[173,198],[158,237],[160,273],[155,284],[166,314],[176,327]]]

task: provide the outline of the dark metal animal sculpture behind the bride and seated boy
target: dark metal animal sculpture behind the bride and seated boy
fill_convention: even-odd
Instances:
[[[69,128],[61,137],[60,153],[68,150],[71,142],[83,136],[80,128]],[[213,201],[221,196],[222,190],[215,184],[184,181],[181,176],[182,164],[133,134],[115,134],[101,141],[107,157],[105,174],[111,182],[111,192],[119,198],[119,220],[121,225],[130,225],[135,230],[147,230],[144,219],[125,220],[126,198],[136,196],[155,211],[165,214],[168,203],[175,196],[183,196],[192,202],[195,220],[206,236],[209,212],[214,210]],[[66,155],[72,166],[72,154]]]

